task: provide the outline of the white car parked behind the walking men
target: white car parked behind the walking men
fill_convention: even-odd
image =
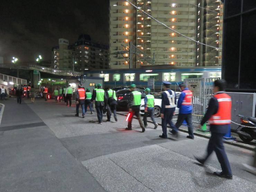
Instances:
[[[181,92],[176,92],[176,102],[178,102],[179,96]],[[162,106],[162,99],[161,99],[161,93],[154,94],[154,101],[155,101],[155,107],[154,107],[154,116],[159,117],[160,116],[160,111],[161,111],[161,106]],[[145,112],[145,103],[144,99],[141,99],[140,103],[140,113],[144,114]],[[175,108],[175,115],[179,114],[179,108]]]

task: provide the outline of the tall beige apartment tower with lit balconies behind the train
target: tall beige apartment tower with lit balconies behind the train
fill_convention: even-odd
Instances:
[[[221,6],[221,4],[219,0],[206,0],[208,4],[202,5],[201,1],[204,0],[134,0],[131,2],[171,29],[196,41],[213,45],[212,37],[215,35],[218,42],[214,43],[217,47],[221,47],[222,16],[219,15],[220,18],[217,19],[218,5]],[[201,6],[198,7],[199,3]],[[206,6],[205,9],[204,6]],[[216,16],[210,16],[207,11],[204,11],[208,8],[216,10]],[[218,36],[210,32],[214,22],[220,25]],[[216,30],[217,28],[216,26]],[[212,51],[208,47],[197,45],[198,43],[171,29],[159,24],[125,0],[110,0],[110,53],[116,53],[110,55],[110,68],[129,68],[129,53],[117,54],[127,50],[125,47],[128,47],[129,41],[144,52],[133,54],[132,67],[138,68],[141,65],[152,64],[143,59],[145,55],[154,58],[155,65],[208,66],[217,63],[221,65],[216,57],[221,56],[219,50]],[[198,53],[197,50],[199,50]],[[134,53],[135,50],[132,49],[132,52]]]

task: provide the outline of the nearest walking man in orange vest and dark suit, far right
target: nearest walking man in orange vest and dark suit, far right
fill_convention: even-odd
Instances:
[[[207,154],[203,158],[195,156],[195,159],[204,164],[208,157],[215,151],[218,161],[220,162],[221,172],[214,172],[214,175],[232,179],[232,172],[228,161],[227,154],[223,145],[223,136],[228,132],[231,121],[231,97],[225,91],[226,81],[218,79],[214,81],[214,95],[210,99],[208,109],[198,126],[205,122],[210,123],[211,138],[209,139]]]

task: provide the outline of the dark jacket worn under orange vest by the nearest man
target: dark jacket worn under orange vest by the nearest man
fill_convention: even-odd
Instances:
[[[223,92],[219,92],[223,93]],[[217,94],[219,94],[217,93]],[[207,111],[201,121],[201,125],[205,124],[212,115],[216,114],[219,109],[219,103],[218,100],[215,97],[212,97],[209,101]],[[229,130],[230,124],[224,124],[224,125],[216,125],[216,124],[210,124],[210,131],[216,132],[216,133],[227,133]]]

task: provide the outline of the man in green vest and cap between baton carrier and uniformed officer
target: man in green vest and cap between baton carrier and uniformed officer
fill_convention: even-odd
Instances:
[[[154,117],[154,107],[155,107],[155,97],[154,95],[152,95],[150,93],[150,89],[146,88],[146,97],[144,98],[144,103],[145,103],[145,113],[144,113],[144,117],[143,117],[143,122],[144,122],[144,126],[148,127],[147,124],[147,116],[149,115],[149,117],[152,119],[153,124],[155,125],[154,129],[157,128],[158,124],[156,123],[155,117]]]

